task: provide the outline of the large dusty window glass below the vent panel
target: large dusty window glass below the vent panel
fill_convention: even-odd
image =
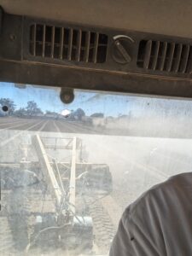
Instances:
[[[192,102],[0,83],[0,254],[108,255],[144,190],[191,172]]]

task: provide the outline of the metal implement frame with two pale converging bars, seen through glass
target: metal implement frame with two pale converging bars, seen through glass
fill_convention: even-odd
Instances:
[[[40,210],[32,212],[35,222],[26,250],[41,247],[46,242],[49,244],[49,241],[56,241],[54,243],[57,247],[67,247],[67,249],[81,247],[83,250],[85,248],[91,250],[94,235],[88,198],[98,191],[102,196],[111,192],[112,177],[108,166],[84,162],[82,141],[78,137],[42,137],[36,134],[32,136],[31,141],[32,143],[27,147],[30,146],[35,150],[38,161],[22,159],[20,163],[12,165],[0,164],[0,170],[8,166],[9,169],[20,170],[20,173],[30,170],[38,178],[39,183],[44,183],[51,195],[52,210],[48,209],[44,214]],[[62,149],[71,152],[68,161],[57,161],[47,152],[47,150]],[[85,205],[87,203],[86,206],[84,202]]]

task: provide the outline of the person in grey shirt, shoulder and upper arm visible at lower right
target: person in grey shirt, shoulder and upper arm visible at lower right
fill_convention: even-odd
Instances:
[[[192,172],[171,177],[125,209],[110,256],[192,255]]]

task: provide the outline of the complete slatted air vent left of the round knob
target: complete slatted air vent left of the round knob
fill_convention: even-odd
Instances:
[[[99,32],[33,24],[30,26],[30,54],[42,58],[103,63],[108,36]]]

